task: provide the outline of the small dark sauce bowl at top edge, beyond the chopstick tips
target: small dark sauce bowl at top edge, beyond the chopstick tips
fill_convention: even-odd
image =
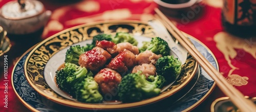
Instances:
[[[166,16],[174,18],[195,19],[203,10],[202,0],[154,0]]]

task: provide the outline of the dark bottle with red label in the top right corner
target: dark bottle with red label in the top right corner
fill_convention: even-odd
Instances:
[[[224,0],[222,25],[224,31],[242,37],[256,36],[256,1]]]

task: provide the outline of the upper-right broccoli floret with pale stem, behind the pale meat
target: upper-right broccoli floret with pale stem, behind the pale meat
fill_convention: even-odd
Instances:
[[[167,56],[170,54],[168,43],[160,37],[152,38],[150,42],[142,42],[142,47],[139,48],[140,52],[150,50],[155,54]]]

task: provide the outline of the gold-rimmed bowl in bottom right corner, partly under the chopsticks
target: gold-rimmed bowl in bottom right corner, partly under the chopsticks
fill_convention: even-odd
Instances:
[[[250,98],[245,96],[245,98],[250,99],[256,105],[256,97]],[[222,97],[216,99],[211,103],[211,112],[240,112],[237,106],[235,106],[229,99],[229,97]]]

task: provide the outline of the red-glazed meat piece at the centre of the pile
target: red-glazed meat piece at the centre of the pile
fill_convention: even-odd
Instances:
[[[113,58],[110,63],[106,65],[106,68],[110,68],[117,71],[119,74],[123,74],[129,69],[133,68],[135,65],[135,55],[131,51],[125,49],[123,52]]]

